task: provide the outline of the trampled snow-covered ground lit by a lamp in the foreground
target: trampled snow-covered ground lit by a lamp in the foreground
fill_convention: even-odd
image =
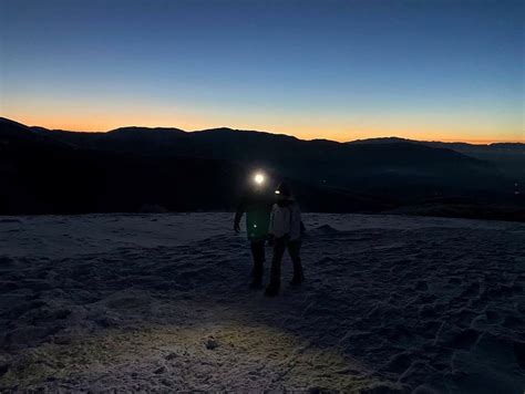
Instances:
[[[230,214],[0,217],[0,391],[524,392],[525,225],[305,222],[266,299]]]

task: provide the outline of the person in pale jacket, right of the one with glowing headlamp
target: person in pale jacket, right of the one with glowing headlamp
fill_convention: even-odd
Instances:
[[[291,190],[286,183],[281,183],[277,190],[277,203],[274,205],[270,215],[269,234],[272,238],[274,257],[271,260],[270,283],[266,288],[265,294],[277,296],[280,288],[280,266],[285,250],[288,249],[294,263],[292,286],[299,286],[303,281],[301,258],[301,232],[303,225],[299,206],[295,201]]]

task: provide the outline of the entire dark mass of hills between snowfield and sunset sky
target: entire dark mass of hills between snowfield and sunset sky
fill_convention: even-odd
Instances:
[[[400,138],[337,143],[215,128],[74,133],[0,120],[1,212],[231,210],[255,168],[305,210],[385,211],[451,200],[515,204],[495,163]]]

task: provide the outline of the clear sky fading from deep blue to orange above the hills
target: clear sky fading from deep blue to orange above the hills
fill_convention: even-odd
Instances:
[[[523,1],[0,0],[0,115],[525,142]]]

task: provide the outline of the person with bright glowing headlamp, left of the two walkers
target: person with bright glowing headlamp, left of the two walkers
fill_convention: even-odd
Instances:
[[[250,242],[254,268],[251,271],[251,289],[262,288],[265,267],[265,243],[268,240],[268,225],[274,197],[267,186],[264,174],[257,173],[250,187],[245,191],[234,218],[234,230],[240,231],[240,219],[246,212],[246,232]]]

